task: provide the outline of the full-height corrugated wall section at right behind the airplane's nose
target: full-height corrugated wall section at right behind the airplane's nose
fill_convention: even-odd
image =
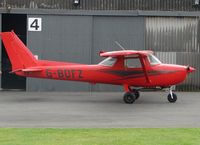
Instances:
[[[198,18],[147,17],[145,47],[162,53],[176,53],[176,58],[165,59],[171,63],[191,65],[197,70],[178,90],[200,90],[200,37]],[[166,58],[166,57],[163,57]],[[160,57],[162,60],[162,57]],[[166,61],[167,60],[167,61]]]

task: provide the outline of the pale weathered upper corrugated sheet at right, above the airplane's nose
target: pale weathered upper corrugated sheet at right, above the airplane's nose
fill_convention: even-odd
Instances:
[[[166,52],[200,52],[196,18],[147,17],[146,48]]]

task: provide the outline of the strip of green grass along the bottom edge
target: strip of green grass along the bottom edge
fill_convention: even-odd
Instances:
[[[200,145],[200,129],[0,128],[0,145]]]

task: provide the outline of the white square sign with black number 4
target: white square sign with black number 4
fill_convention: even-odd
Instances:
[[[28,31],[42,31],[42,18],[28,18]]]

